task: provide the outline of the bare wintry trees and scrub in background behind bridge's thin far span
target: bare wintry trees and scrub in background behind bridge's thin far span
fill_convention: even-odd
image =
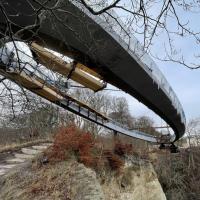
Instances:
[[[88,89],[71,91],[72,95],[87,103],[92,108],[109,116],[113,120],[127,126],[157,135],[153,128],[153,121],[148,117],[135,118],[129,111],[125,98],[114,97],[107,92],[94,94]],[[92,133],[95,137],[112,133],[105,128],[84,120],[83,118],[67,112],[66,110],[49,104],[33,95],[34,101],[27,105],[26,110],[18,107],[18,111],[12,113],[12,106],[2,108],[0,115],[0,146],[16,145],[35,141],[38,139],[52,139],[56,130],[61,126],[73,123],[85,132]],[[21,98],[19,99],[22,100]],[[137,145],[138,142],[135,143]],[[139,142],[141,143],[141,142]]]

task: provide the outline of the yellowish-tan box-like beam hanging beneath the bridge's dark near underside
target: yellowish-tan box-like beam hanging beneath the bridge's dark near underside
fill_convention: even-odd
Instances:
[[[31,43],[31,49],[36,53],[39,63],[48,69],[71,78],[94,91],[99,91],[106,87],[105,82],[99,79],[100,75],[86,66],[76,62],[66,63],[63,59],[35,42]]]

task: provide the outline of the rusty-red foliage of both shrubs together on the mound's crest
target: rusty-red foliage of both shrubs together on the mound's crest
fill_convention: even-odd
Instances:
[[[124,148],[121,148],[124,147]],[[121,152],[127,153],[128,146],[120,146]],[[119,149],[120,149],[119,148]],[[103,145],[90,133],[84,132],[74,125],[62,127],[55,135],[54,144],[46,152],[50,161],[63,161],[75,157],[79,162],[99,170],[110,167],[112,170],[120,170],[124,161],[119,150],[104,150]]]

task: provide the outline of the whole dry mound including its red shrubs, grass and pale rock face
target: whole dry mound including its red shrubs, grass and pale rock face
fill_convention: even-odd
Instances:
[[[109,141],[107,141],[109,140]],[[143,158],[142,158],[143,157]],[[61,128],[43,153],[0,177],[2,200],[166,200],[132,144]]]

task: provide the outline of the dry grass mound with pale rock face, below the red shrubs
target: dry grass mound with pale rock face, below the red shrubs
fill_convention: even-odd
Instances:
[[[166,200],[152,165],[133,157],[118,174],[96,173],[74,160],[29,164],[1,177],[0,199]]]

